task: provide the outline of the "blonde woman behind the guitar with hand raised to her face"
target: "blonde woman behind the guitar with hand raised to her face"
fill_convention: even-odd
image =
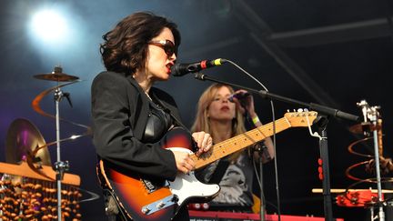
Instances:
[[[196,120],[192,131],[205,131],[213,137],[213,143],[225,141],[245,133],[245,115],[255,126],[262,126],[254,108],[252,95],[245,90],[235,92],[229,85],[214,84],[200,96],[197,104]],[[240,95],[244,95],[242,98]],[[273,142],[270,137],[257,144],[266,148],[262,161],[274,157]],[[211,210],[252,212],[253,160],[260,155],[249,146],[226,156],[197,171],[196,176],[205,183],[217,183],[221,187],[219,195],[209,203]],[[218,179],[218,180],[217,180]]]

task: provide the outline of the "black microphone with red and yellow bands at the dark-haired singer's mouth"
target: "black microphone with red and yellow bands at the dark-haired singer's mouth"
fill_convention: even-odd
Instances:
[[[182,76],[188,73],[198,72],[209,67],[222,65],[226,62],[226,59],[217,58],[215,60],[203,60],[196,63],[175,64],[171,66],[171,73],[174,76]]]

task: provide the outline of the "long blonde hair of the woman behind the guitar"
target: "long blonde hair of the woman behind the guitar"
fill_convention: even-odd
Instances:
[[[231,94],[235,91],[230,85],[223,84],[213,84],[207,87],[207,89],[202,93],[199,97],[196,109],[196,119],[194,121],[193,126],[191,127],[191,131],[205,131],[208,134],[211,134],[212,130],[210,127],[209,117],[207,116],[208,108],[210,104],[215,99],[218,89],[221,87],[227,87]],[[231,136],[237,136],[246,132],[246,127],[244,126],[244,119],[240,111],[236,108],[235,118],[232,120],[232,134]],[[230,160],[234,161],[240,156],[241,151],[230,156]]]

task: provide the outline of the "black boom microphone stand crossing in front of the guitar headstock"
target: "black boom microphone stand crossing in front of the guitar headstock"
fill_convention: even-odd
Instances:
[[[253,88],[249,88],[243,85],[236,85],[224,81],[217,80],[210,76],[204,75],[202,73],[196,73],[195,78],[201,81],[212,81],[224,85],[231,85],[237,88],[242,88],[251,92],[256,95],[260,95],[264,99],[271,99],[277,100],[281,102],[285,102],[287,104],[292,105],[300,105],[300,106],[307,106],[309,109],[315,110],[318,114],[323,114],[324,116],[317,117],[317,121],[321,122],[317,125],[318,131],[322,137],[319,139],[319,152],[320,152],[320,159],[322,161],[322,171],[323,176],[320,177],[322,179],[322,186],[323,186],[323,196],[324,196],[324,212],[325,212],[325,220],[326,221],[333,221],[333,211],[332,211],[332,202],[331,202],[331,195],[330,195],[330,178],[329,178],[329,166],[328,166],[328,133],[327,133],[327,125],[328,125],[328,117],[327,116],[334,116],[337,118],[347,119],[351,121],[358,121],[358,116],[354,116],[345,112],[342,112],[338,109],[334,109],[325,105],[318,105],[315,103],[306,103],[301,102],[292,98],[288,98],[281,95],[275,95],[269,93],[265,90],[256,90]],[[261,217],[262,218],[262,217]]]

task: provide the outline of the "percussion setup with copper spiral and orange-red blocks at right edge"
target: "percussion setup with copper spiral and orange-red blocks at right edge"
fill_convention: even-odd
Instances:
[[[393,163],[390,158],[383,156],[382,146],[382,118],[379,114],[380,106],[370,106],[365,100],[360,101],[357,105],[363,113],[363,122],[358,125],[350,126],[349,131],[353,134],[363,134],[366,136],[357,140],[348,146],[348,152],[353,155],[371,158],[352,166],[348,166],[346,176],[357,182],[348,186],[347,189],[331,189],[332,193],[338,194],[336,197],[338,206],[363,206],[370,210],[370,220],[385,220],[384,206],[393,206],[391,198],[384,198],[383,194],[393,194],[393,190],[382,189],[382,183],[392,183],[393,178],[381,177],[381,174],[388,174],[393,171]],[[360,143],[372,141],[374,146],[374,155],[361,153],[354,149]],[[353,175],[353,169],[364,166],[367,172],[374,175],[373,178],[360,178]],[[377,189],[355,189],[360,184],[377,184]],[[322,189],[313,189],[313,193],[322,193]],[[378,209],[378,215],[375,216],[375,209]]]

